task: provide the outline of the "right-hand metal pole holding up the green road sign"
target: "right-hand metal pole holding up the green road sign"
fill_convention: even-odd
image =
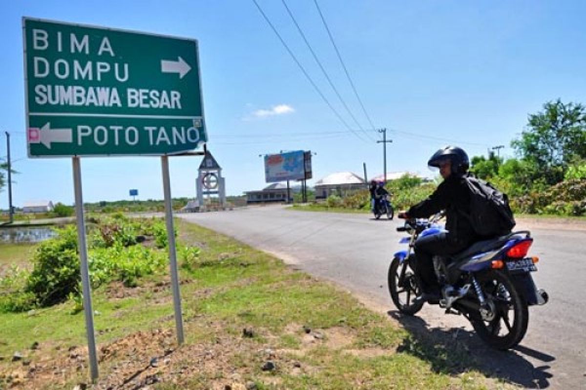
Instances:
[[[173,205],[168,156],[161,156],[161,168],[163,171],[163,193],[165,194],[165,222],[169,241],[169,270],[171,271],[171,285],[173,288],[173,306],[175,307],[175,327],[177,329],[177,342],[183,344],[183,319],[181,298],[179,296],[179,275],[177,274],[177,251],[175,249],[175,229],[173,229]]]

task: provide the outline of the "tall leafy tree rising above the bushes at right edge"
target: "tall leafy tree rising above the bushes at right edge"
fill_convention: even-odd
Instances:
[[[586,158],[586,108],[558,99],[543,109],[529,115],[527,128],[511,146],[524,160],[537,164],[547,184],[556,184],[571,161]]]

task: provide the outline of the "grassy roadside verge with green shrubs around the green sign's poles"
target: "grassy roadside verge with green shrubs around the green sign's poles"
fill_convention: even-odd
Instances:
[[[180,347],[162,220],[114,215],[91,227],[96,388],[513,387],[476,366],[467,334],[445,342],[414,336],[266,253],[196,225],[177,227]],[[33,247],[28,271],[0,279],[0,389],[87,384],[75,236],[74,227],[59,230]],[[31,247],[11,250],[22,259]]]

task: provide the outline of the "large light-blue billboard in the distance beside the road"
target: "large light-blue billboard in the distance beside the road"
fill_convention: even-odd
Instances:
[[[305,177],[305,153],[288,151],[264,156],[264,177],[267,183],[302,180]]]

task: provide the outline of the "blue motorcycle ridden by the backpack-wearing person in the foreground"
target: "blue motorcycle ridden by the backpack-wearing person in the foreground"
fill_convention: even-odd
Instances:
[[[389,292],[397,309],[414,315],[424,305],[421,281],[415,275],[417,260],[413,244],[418,237],[444,232],[438,221],[411,219],[398,232],[406,232],[400,243],[407,250],[394,254],[389,266]],[[445,313],[464,315],[479,337],[489,346],[507,350],[523,339],[529,323],[529,306],[544,305],[548,295],[537,289],[531,272],[537,271],[539,258],[527,256],[533,243],[528,231],[513,232],[492,240],[479,241],[461,253],[434,256],[434,270],[441,286],[437,304]]]

